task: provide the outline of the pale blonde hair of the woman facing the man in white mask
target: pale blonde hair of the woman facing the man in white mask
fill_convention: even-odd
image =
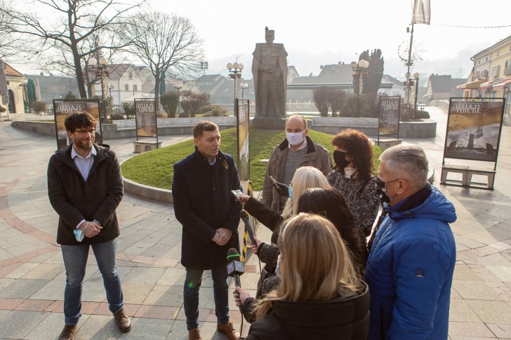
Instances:
[[[291,183],[293,184],[293,187],[291,188],[291,191],[293,192],[293,201],[291,201],[291,198],[288,198],[286,205],[284,205],[282,217],[285,219],[296,215],[296,212],[298,212],[298,198],[300,198],[303,191],[309,188],[330,186],[328,179],[326,179],[325,175],[323,175],[323,172],[312,166],[303,166],[296,169],[295,175],[293,175],[293,179],[291,179]]]

